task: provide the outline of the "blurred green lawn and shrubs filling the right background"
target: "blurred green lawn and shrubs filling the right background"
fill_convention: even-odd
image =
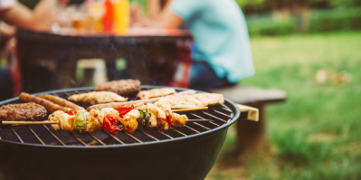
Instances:
[[[288,99],[268,106],[263,149],[233,156],[231,127],[206,179],[361,179],[361,0],[236,2],[256,67],[242,84],[286,90]]]

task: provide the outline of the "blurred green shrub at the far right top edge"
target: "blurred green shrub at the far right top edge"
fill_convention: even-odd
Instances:
[[[361,8],[341,8],[314,12],[309,21],[309,32],[361,30]]]

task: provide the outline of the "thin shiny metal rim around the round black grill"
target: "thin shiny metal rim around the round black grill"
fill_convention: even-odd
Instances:
[[[156,88],[169,88],[167,86],[151,86],[151,85],[142,85],[141,89],[156,89]],[[172,87],[174,88],[174,87]],[[183,91],[183,90],[191,90],[191,89],[183,89],[183,88],[175,88],[176,91]],[[43,92],[38,92],[38,93],[33,93],[33,95],[38,96],[41,94],[49,94],[49,93],[60,93],[60,92],[67,92],[67,91],[79,91],[79,90],[94,90],[94,87],[84,87],[84,88],[73,88],[73,89],[62,89],[62,90],[49,90],[49,91],[43,91]],[[204,93],[205,91],[202,90],[195,90],[198,93]],[[13,99],[6,99],[0,102],[0,106],[5,105],[7,103],[10,103],[14,100],[19,100],[19,98],[13,98]],[[230,99],[226,99],[224,98],[224,101],[230,103],[233,106],[233,109],[235,109],[235,112],[233,111],[233,109],[231,109],[233,111],[233,117],[227,121],[227,123],[221,125],[220,127],[217,128],[212,128],[210,130],[201,132],[199,134],[193,134],[193,135],[188,135],[187,137],[176,137],[173,139],[162,139],[159,141],[148,141],[148,142],[142,142],[142,143],[131,143],[131,144],[117,144],[117,145],[108,145],[108,146],[88,146],[88,147],[83,147],[83,146],[67,146],[67,147],[63,147],[63,146],[57,146],[57,145],[41,145],[41,144],[30,144],[30,143],[21,143],[21,142],[15,142],[15,141],[9,141],[9,140],[3,140],[0,139],[0,146],[2,145],[7,145],[7,146],[11,146],[11,147],[17,147],[17,148],[27,148],[29,149],[29,147],[33,147],[34,150],[38,150],[38,149],[59,149],[59,150],[65,150],[65,149],[69,149],[69,150],[74,150],[74,149],[89,149],[89,150],[98,150],[98,149],[118,149],[118,148],[138,148],[138,147],[142,147],[142,146],[147,146],[147,147],[157,147],[157,146],[162,146],[162,147],[167,147],[167,146],[173,146],[174,143],[179,144],[179,143],[186,143],[189,141],[193,141],[193,140],[199,140],[205,137],[210,137],[210,136],[214,136],[215,134],[221,132],[222,130],[224,130],[225,128],[229,128],[231,125],[233,125],[233,123],[241,116],[241,111],[240,109],[237,108],[236,104],[230,100]],[[227,108],[229,108],[227,106]],[[230,109],[230,108],[229,108]]]

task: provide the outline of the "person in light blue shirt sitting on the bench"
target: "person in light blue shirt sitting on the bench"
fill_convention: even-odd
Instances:
[[[234,0],[169,0],[166,7],[153,26],[185,27],[194,37],[190,89],[232,86],[254,74],[247,25]]]

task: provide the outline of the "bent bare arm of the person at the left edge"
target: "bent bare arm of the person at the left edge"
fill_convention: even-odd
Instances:
[[[52,9],[56,2],[57,0],[41,0],[33,11],[17,3],[3,11],[0,14],[0,19],[17,27],[35,31],[46,31],[52,25]]]

